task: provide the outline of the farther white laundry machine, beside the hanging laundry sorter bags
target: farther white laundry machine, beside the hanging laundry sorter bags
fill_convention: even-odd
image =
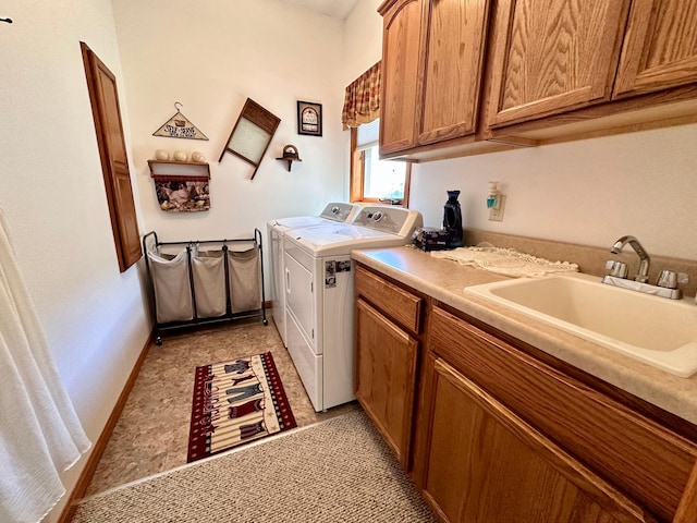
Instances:
[[[283,263],[283,236],[292,229],[318,227],[328,223],[351,222],[356,217],[360,206],[357,204],[330,203],[319,216],[294,216],[290,218],[279,218],[267,223],[269,234],[269,267],[271,269],[271,314],[276,328],[288,346],[285,335],[285,292],[283,284],[284,263]]]

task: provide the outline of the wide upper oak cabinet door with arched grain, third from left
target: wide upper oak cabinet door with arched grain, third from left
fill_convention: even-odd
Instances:
[[[501,0],[490,127],[610,99],[628,0]]]

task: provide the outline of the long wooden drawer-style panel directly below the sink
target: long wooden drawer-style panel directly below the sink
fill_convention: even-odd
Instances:
[[[429,349],[661,520],[675,515],[697,446],[531,355],[435,308]]]

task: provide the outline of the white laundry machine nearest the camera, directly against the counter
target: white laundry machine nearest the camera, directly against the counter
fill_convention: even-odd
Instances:
[[[351,224],[293,229],[284,239],[288,350],[315,411],[353,396],[351,251],[412,242],[420,212],[365,207]]]

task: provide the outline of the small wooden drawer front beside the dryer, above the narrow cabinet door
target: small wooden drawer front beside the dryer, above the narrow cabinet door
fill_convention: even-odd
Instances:
[[[364,296],[398,324],[419,332],[424,301],[420,297],[360,267],[356,267],[356,294]]]

